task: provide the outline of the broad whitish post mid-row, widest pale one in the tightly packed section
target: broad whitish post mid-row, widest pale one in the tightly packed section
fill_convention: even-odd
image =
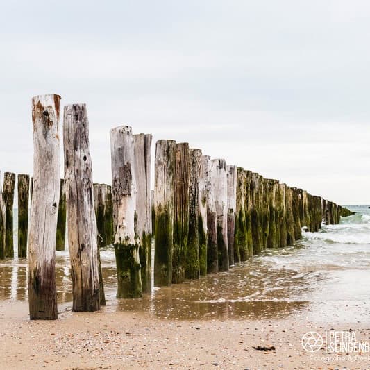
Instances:
[[[212,182],[215,184],[219,271],[228,271],[228,180],[226,176],[226,161],[224,159],[212,160],[211,177]]]

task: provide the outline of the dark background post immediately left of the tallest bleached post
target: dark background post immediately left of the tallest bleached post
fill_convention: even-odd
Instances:
[[[30,176],[18,175],[18,257],[27,257]]]

